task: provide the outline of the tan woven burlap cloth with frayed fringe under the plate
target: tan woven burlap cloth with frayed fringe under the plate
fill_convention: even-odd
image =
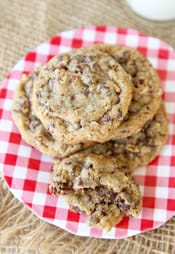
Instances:
[[[54,34],[87,25],[130,27],[175,47],[175,21],[154,23],[118,0],[1,0],[0,82],[27,52]],[[175,253],[175,217],[159,229],[122,240],[81,238],[33,215],[0,176],[0,253]]]

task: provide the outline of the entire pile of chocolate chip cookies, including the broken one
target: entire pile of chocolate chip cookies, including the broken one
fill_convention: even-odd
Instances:
[[[110,231],[140,214],[132,171],[168,136],[160,79],[143,55],[100,44],[59,54],[23,76],[12,117],[28,144],[59,157],[50,192],[86,213],[89,226]]]

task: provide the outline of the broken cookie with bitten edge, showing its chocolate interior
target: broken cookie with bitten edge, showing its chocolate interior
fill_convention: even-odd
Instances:
[[[90,227],[107,232],[125,214],[138,217],[142,207],[131,171],[114,157],[78,153],[55,160],[49,189],[74,212],[86,213]]]

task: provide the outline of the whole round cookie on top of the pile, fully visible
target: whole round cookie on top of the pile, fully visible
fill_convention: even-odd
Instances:
[[[110,140],[128,112],[130,79],[111,56],[93,48],[57,55],[34,84],[34,112],[62,143]]]

